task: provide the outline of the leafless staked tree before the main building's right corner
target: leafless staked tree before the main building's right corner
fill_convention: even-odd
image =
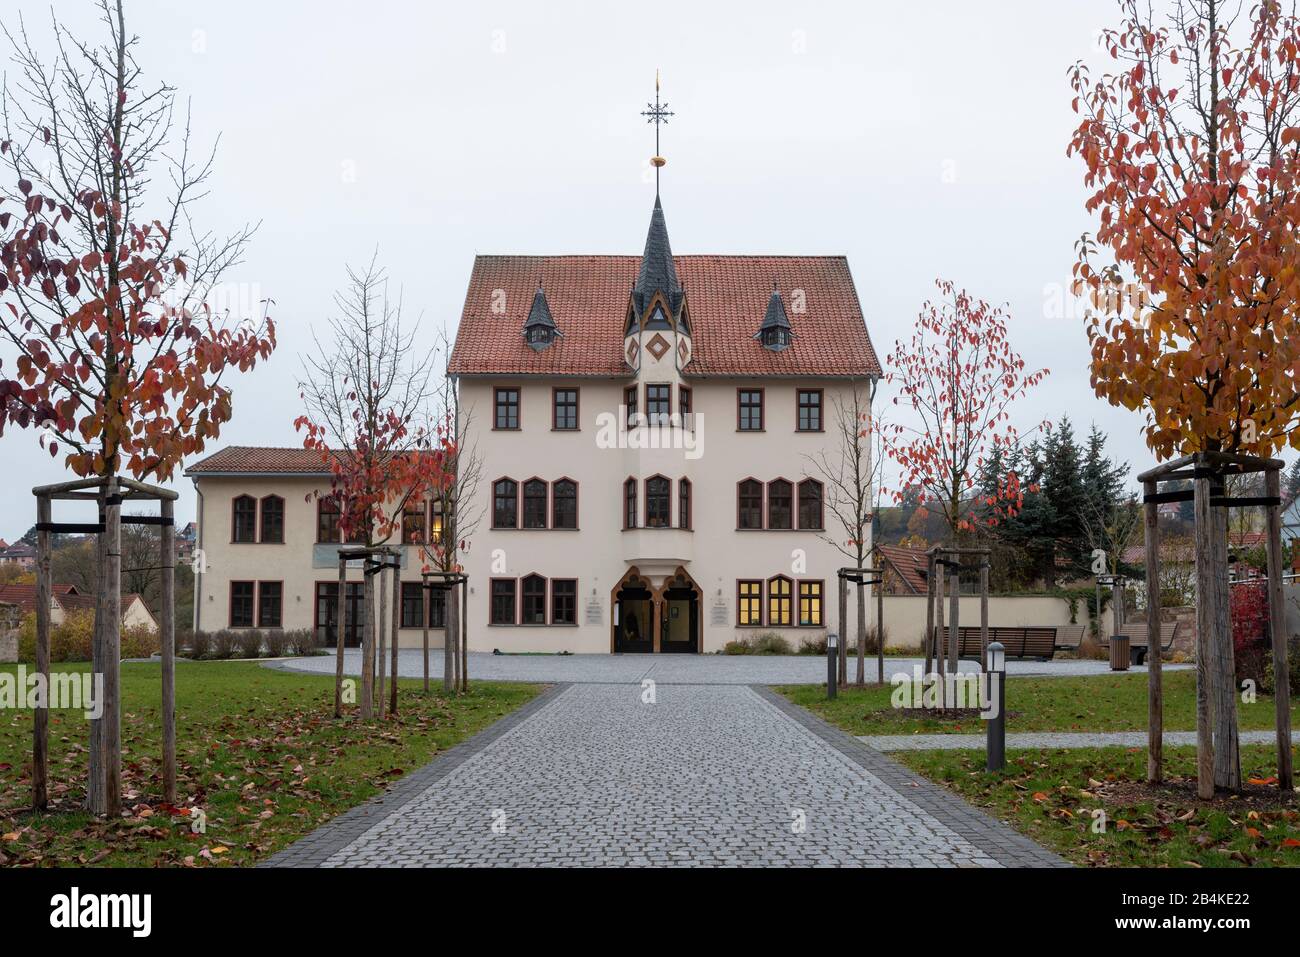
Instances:
[[[871,523],[879,505],[879,476],[884,456],[880,455],[878,423],[872,420],[871,400],[875,398],[875,380],[863,385],[852,380],[846,389],[832,399],[835,415],[829,423],[832,442],[814,455],[806,456],[824,488],[824,508],[831,512],[833,528],[822,540],[833,545],[840,554],[864,568],[870,555],[867,542]],[[829,524],[829,523],[827,523]],[[838,580],[836,580],[838,586]],[[858,684],[866,683],[867,654],[867,596],[858,585]],[[840,631],[845,623],[840,622]],[[840,680],[848,680],[849,636],[840,638]],[[876,641],[884,641],[883,635]]]

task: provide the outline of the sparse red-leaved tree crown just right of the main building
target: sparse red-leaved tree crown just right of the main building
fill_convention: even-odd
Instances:
[[[919,492],[919,505],[941,512],[956,545],[989,516],[1014,515],[1023,505],[1014,472],[979,502],[976,485],[985,459],[1019,441],[1010,407],[1048,371],[1026,371],[1008,339],[1002,307],[945,280],[936,285],[942,300],[922,306],[909,343],[894,342],[885,377],[898,386],[894,404],[911,408],[919,423],[898,421],[880,434],[900,469],[894,497]]]

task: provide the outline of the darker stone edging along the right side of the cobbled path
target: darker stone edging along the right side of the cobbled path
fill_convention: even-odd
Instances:
[[[945,827],[987,853],[1006,867],[1072,867],[1020,832],[991,818],[957,794],[945,791],[915,771],[867,746],[852,735],[800,707],[767,685],[750,685],[767,703],[807,728],[859,767],[870,771],[898,794],[931,814]]]

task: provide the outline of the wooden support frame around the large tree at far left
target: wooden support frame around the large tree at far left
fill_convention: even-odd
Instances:
[[[162,662],[162,801],[177,802],[176,787],[176,499],[177,493],[122,476],[81,478],[57,485],[39,485],[36,497],[36,672],[44,684],[32,716],[31,806],[49,806],[49,629],[53,583],[51,581],[52,532],[98,536],[103,563],[99,596],[95,602],[95,633],[91,645],[91,674],[103,676],[100,716],[91,719],[86,785],[86,809],[91,814],[116,818],[122,813],[122,546],[124,524],[157,525],[162,609],[159,622],[159,649]],[[98,523],[53,520],[55,502],[96,502]],[[122,515],[124,502],[157,502],[159,515]]]

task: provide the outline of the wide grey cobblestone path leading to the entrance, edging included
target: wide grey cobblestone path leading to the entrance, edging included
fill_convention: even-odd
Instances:
[[[654,692],[556,685],[269,863],[1063,863],[766,688]]]

